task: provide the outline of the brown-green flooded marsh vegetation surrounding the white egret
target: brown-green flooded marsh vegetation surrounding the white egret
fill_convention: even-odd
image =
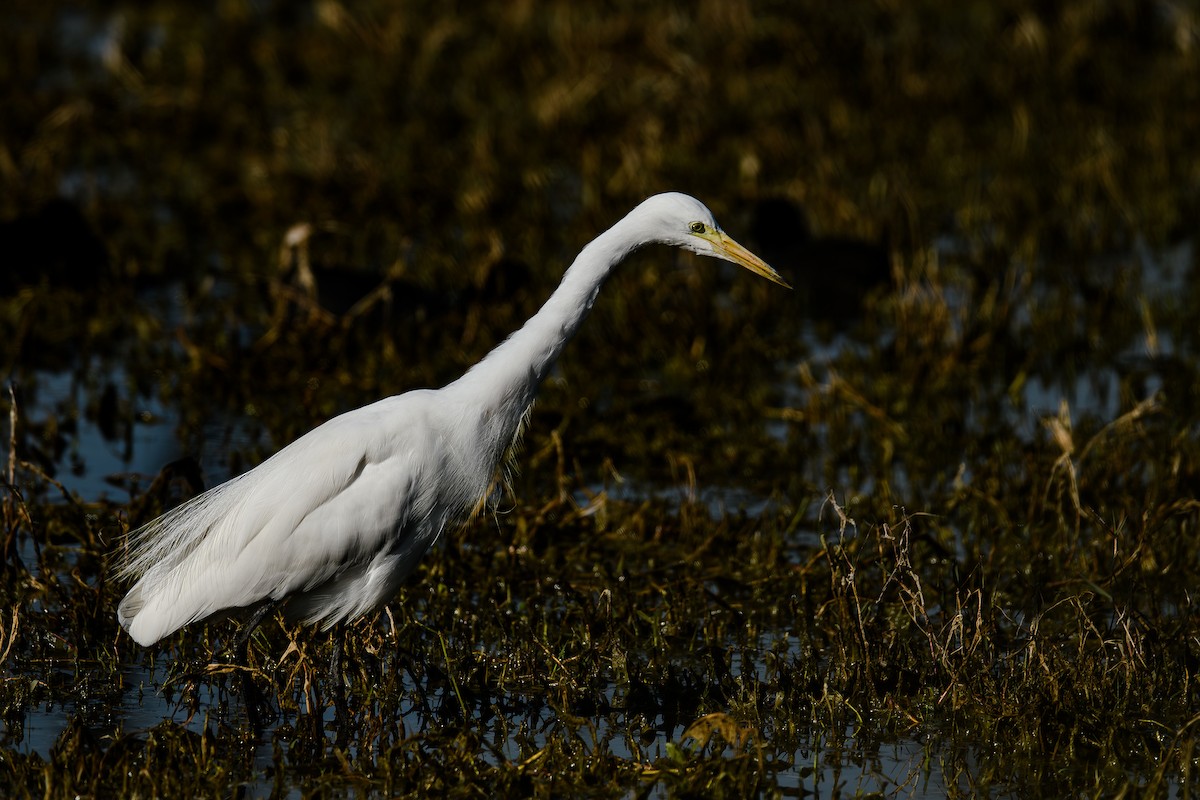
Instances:
[[[6,796],[1166,795],[1200,705],[1195,4],[0,12]],[[122,535],[457,377],[643,197],[494,511],[350,628]]]

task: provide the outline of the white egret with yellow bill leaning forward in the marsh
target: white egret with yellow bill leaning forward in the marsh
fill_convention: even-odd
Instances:
[[[692,197],[658,194],[592,241],[541,309],[462,378],[329,420],[254,469],[133,531],[116,615],[148,646],[218,613],[324,628],[386,603],[448,525],[485,501],[546,372],[612,269],[655,242],[784,287]]]

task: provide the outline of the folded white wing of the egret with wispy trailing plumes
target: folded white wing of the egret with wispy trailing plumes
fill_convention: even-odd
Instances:
[[[424,399],[410,392],[335,417],[136,531],[122,573],[138,582],[121,602],[122,625],[156,642],[218,610],[302,591],[390,546],[422,512],[422,464],[436,461]]]

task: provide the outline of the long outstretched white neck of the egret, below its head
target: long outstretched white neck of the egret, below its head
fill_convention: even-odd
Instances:
[[[446,390],[479,403],[488,427],[511,444],[538,387],[583,324],[605,278],[641,242],[628,218],[592,241],[576,257],[536,314]]]

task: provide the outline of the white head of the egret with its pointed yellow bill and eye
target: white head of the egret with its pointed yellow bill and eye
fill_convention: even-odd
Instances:
[[[655,194],[638,205],[630,216],[636,216],[646,225],[647,241],[674,245],[700,255],[733,261],[781,287],[792,288],[766,261],[721,230],[708,206],[689,194]]]

